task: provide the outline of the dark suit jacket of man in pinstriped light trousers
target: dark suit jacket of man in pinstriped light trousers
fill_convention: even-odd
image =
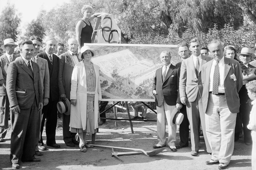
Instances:
[[[157,91],[157,95],[155,96],[157,106],[161,106],[164,99],[170,106],[181,103],[178,93],[179,73],[180,69],[171,64],[163,82],[162,67],[157,69],[152,87],[153,90]]]

